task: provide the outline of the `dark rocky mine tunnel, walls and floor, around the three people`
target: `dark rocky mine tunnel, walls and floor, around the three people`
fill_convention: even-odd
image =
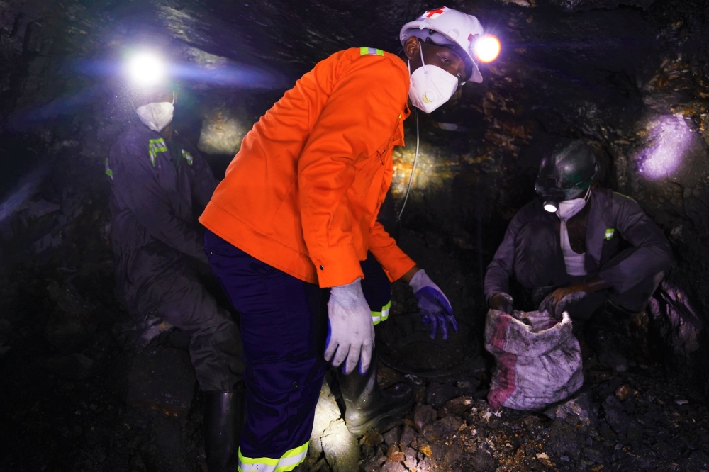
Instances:
[[[216,179],[302,74],[349,47],[399,54],[419,0],[0,0],[0,471],[202,471],[189,337],[119,303],[108,150],[140,121],[122,72],[151,47],[174,74],[174,127]],[[415,405],[355,437],[328,371],[298,471],[709,471],[709,6],[700,0],[452,0],[501,54],[430,115],[399,245],[461,332],[428,338],[406,283],[377,327],[379,381]],[[401,209],[415,154],[393,151]],[[620,330],[630,369],[581,342],[584,387],[545,412],[493,410],[486,266],[537,198],[542,157],[584,140],[601,186],[660,227],[676,264]],[[393,219],[393,218],[391,218]],[[213,287],[220,292],[218,285]],[[228,300],[221,295],[219,302]],[[145,330],[156,336],[130,349]],[[143,330],[143,331],[141,331]]]

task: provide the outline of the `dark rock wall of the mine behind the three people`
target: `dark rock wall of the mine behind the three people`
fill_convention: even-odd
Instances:
[[[27,266],[110,271],[104,159],[135,123],[111,69],[126,48],[159,45],[173,60],[212,71],[183,81],[176,123],[194,142],[214,127],[230,127],[238,139],[313,63],[343,47],[396,52],[398,28],[429,6],[0,1],[4,296],[16,297],[23,281],[14,274]],[[449,6],[478,15],[503,52],[482,67],[482,84],[420,116],[420,167],[403,225],[480,279],[515,210],[534,198],[542,154],[559,137],[583,138],[603,159],[604,184],[635,198],[671,240],[678,264],[650,312],[667,354],[709,392],[709,7],[681,0]],[[230,67],[256,75],[230,82]],[[411,172],[413,118],[406,127],[407,146],[394,155],[397,201]],[[228,145],[203,142],[223,171]],[[484,314],[477,301],[470,316]],[[0,330],[0,347],[18,336]]]

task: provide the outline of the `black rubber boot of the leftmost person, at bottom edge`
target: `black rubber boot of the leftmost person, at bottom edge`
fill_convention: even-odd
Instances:
[[[245,400],[245,390],[204,393],[204,453],[209,472],[238,471]]]

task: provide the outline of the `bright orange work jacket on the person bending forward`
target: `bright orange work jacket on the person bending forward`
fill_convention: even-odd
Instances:
[[[396,55],[337,52],[244,137],[199,219],[267,264],[321,287],[362,277],[367,249],[389,279],[415,263],[376,221],[403,145],[409,76]]]

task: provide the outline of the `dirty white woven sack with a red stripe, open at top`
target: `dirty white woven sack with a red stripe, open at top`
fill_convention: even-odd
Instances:
[[[568,313],[559,320],[546,311],[489,310],[485,349],[496,359],[488,394],[493,408],[539,410],[584,384],[581,348]]]

